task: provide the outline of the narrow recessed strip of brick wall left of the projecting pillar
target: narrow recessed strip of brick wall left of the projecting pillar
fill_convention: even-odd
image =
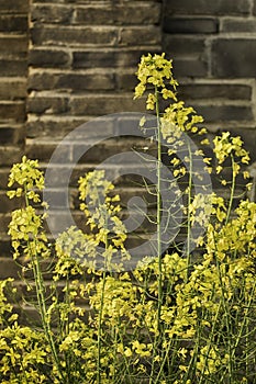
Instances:
[[[29,0],[0,0],[0,278],[15,275],[7,227],[13,202],[5,197],[8,173],[24,151]]]

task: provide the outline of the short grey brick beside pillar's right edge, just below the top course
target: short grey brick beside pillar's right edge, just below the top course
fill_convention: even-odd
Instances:
[[[218,33],[219,20],[212,18],[186,19],[186,18],[164,18],[164,32],[166,33]]]

